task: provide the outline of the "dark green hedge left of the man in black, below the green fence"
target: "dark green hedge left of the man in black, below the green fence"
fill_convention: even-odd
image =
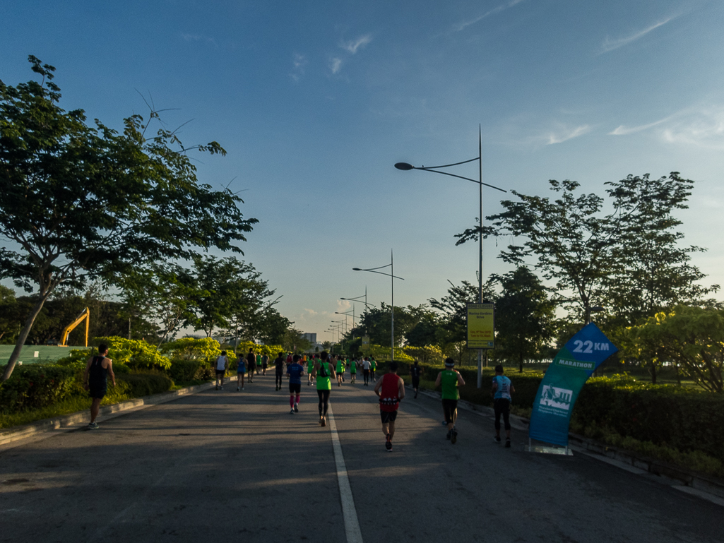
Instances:
[[[0,366],[0,374],[5,366]],[[74,392],[76,370],[46,364],[16,366],[12,377],[0,384],[0,413],[44,408]]]

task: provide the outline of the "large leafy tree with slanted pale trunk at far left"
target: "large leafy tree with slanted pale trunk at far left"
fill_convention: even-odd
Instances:
[[[120,277],[153,258],[189,258],[196,247],[239,251],[256,219],[243,219],[230,190],[201,185],[175,132],[147,136],[140,115],[118,133],[82,109],[64,111],[55,68],[29,57],[41,82],[0,82],[0,277],[35,303],[2,379],[12,374],[35,317],[59,285]],[[222,154],[219,143],[195,146]]]

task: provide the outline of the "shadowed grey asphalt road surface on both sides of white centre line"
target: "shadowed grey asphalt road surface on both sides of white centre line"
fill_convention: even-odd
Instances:
[[[286,382],[285,382],[286,387]],[[492,441],[439,400],[403,401],[384,449],[372,387],[332,390],[364,542],[722,542],[724,508],[584,455]],[[0,451],[0,542],[346,542],[330,428],[274,376]]]

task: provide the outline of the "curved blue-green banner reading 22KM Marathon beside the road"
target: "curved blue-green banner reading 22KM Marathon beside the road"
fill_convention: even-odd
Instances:
[[[586,324],[548,366],[533,402],[529,437],[568,445],[568,424],[578,392],[594,370],[618,349],[593,323]]]

